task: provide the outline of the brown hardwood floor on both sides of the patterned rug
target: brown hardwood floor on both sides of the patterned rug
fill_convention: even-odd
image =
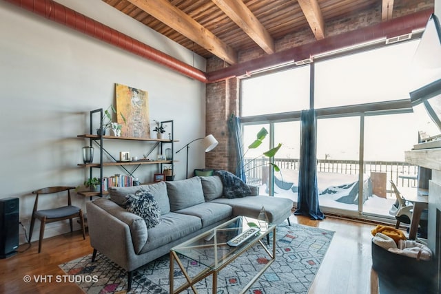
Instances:
[[[375,224],[331,217],[314,221],[291,216],[290,220],[336,232],[309,293],[378,293],[376,274],[371,273],[370,231]],[[37,242],[26,251],[28,244],[21,245],[23,253],[0,260],[0,293],[83,293],[76,284],[56,281],[57,275],[65,275],[59,264],[92,253],[88,235],[86,240],[82,237],[77,231],[45,239],[41,253],[37,253]],[[24,282],[27,276],[31,282]],[[35,282],[34,276],[46,277],[46,281]]]

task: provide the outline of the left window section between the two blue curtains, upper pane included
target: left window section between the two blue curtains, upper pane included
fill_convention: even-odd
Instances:
[[[245,168],[247,182],[260,185],[260,193],[296,198],[296,188],[287,187],[297,187],[298,182],[292,171],[298,169],[300,117],[292,113],[300,113],[300,110],[309,108],[309,70],[306,65],[294,70],[248,78],[240,84],[244,151],[255,140],[261,127],[269,132],[264,143],[258,149],[247,151],[245,156],[248,166],[260,164],[258,168]],[[290,121],[280,119],[280,113],[284,113]],[[269,118],[272,115],[277,116],[276,120]],[[259,116],[261,118],[258,122],[246,119]],[[274,164],[280,167],[280,171],[274,173],[272,165],[263,164],[268,162],[268,158],[262,154],[279,143],[282,147],[274,158]],[[254,159],[256,156],[259,157]],[[247,163],[249,161],[252,163]]]

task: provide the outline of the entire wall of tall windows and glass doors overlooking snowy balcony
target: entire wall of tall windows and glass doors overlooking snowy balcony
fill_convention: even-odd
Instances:
[[[282,172],[274,173],[272,180],[261,180],[269,186],[265,191],[297,200],[299,116],[302,109],[314,105],[320,206],[325,211],[391,218],[388,211],[394,198],[389,180],[414,185],[418,172],[404,162],[404,151],[418,142],[418,124],[412,123],[416,118],[409,101],[417,46],[414,40],[317,59],[311,65],[314,75],[311,66],[305,66],[244,79],[243,124],[265,122],[274,132],[267,147],[291,140],[283,143],[276,156]],[[245,127],[244,136],[249,133]]]

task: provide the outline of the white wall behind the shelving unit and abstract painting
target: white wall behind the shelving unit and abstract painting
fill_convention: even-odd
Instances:
[[[201,56],[100,0],[59,3],[205,70]],[[34,202],[31,191],[52,185],[76,187],[88,177],[86,169],[77,167],[88,140],[76,135],[88,132],[90,110],[114,103],[115,83],[148,92],[151,120],[174,120],[175,138],[180,140],[175,150],[205,136],[203,83],[0,1],[0,198],[20,199],[20,220],[27,229]],[[149,146],[106,142],[115,156],[119,151],[142,156]],[[201,146],[192,144],[190,170],[205,166],[205,158],[196,156],[198,151],[202,152]],[[176,179],[185,178],[185,152],[175,159],[180,160]],[[149,182],[155,172],[145,165],[135,176]],[[104,176],[115,173],[123,171],[105,169]],[[64,198],[41,204],[51,207],[60,200]],[[85,208],[85,201],[73,194],[74,204]],[[67,232],[67,224],[49,224],[45,238]],[[37,240],[38,231],[39,222],[32,240]],[[20,242],[24,242],[22,231]]]

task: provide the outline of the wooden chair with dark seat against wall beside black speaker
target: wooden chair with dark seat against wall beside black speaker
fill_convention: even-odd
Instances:
[[[68,220],[70,222],[70,231],[72,232],[72,219],[79,218],[81,228],[83,229],[83,239],[85,240],[85,228],[84,228],[84,218],[83,210],[79,207],[73,206],[70,200],[70,190],[75,189],[75,187],[47,187],[39,189],[37,191],[32,191],[32,193],[37,194],[35,196],[34,210],[32,211],[32,218],[30,221],[30,232],[29,232],[29,242],[31,242],[32,231],[34,231],[34,222],[38,218],[41,222],[40,225],[40,238],[39,238],[39,253],[41,252],[41,242],[43,241],[45,224],[49,222],[58,222],[59,220]],[[53,209],[38,210],[39,196],[45,194],[52,194],[62,191],[68,191],[68,205],[63,207],[57,207]]]

